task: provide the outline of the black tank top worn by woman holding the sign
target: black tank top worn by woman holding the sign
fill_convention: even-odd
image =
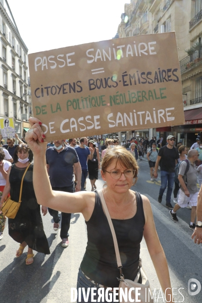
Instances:
[[[112,219],[123,274],[126,279],[134,280],[138,271],[140,242],[144,230],[144,212],[142,198],[135,192],[137,212],[131,219]],[[118,287],[120,271],[117,268],[112,232],[103,211],[100,198],[95,191],[95,206],[87,225],[88,242],[81,262],[81,270],[93,281],[108,287]]]

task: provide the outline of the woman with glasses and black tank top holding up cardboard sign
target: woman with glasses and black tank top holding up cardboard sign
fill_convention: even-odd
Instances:
[[[117,277],[120,275],[112,233],[99,194],[97,191],[68,193],[52,190],[44,162],[46,144],[41,144],[45,137],[40,128],[42,123],[36,118],[30,118],[29,122],[32,127],[26,133],[26,142],[34,154],[33,184],[37,202],[61,212],[83,214],[88,242],[77,287],[96,288],[95,299],[99,287],[105,287],[106,292],[106,287],[118,287]],[[133,155],[121,146],[108,148],[101,173],[106,182],[102,193],[113,221],[121,256],[124,256],[121,259],[125,278],[134,280],[137,275],[140,242],[144,236],[161,287],[164,292],[167,289],[166,299],[172,301],[166,257],[156,232],[149,200],[130,190],[138,174]],[[91,296],[88,302],[91,302]]]

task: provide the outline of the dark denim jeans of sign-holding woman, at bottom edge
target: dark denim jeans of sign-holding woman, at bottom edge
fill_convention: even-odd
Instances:
[[[88,280],[85,275],[82,273],[81,269],[79,269],[79,272],[78,272],[78,280],[77,280],[77,291],[78,291],[78,294],[79,294],[79,288],[85,288],[85,294],[87,294],[87,289],[90,288],[90,292],[89,292],[89,296],[88,296],[88,300],[84,301],[84,298],[83,298],[83,291],[81,289],[81,300],[79,300],[79,295],[77,297],[77,303],[78,302],[81,302],[81,303],[84,303],[84,302],[88,302],[88,303],[91,303],[91,289],[92,288],[96,288],[94,289],[94,296],[93,296],[93,299],[96,300],[97,302],[97,299],[98,299],[98,289],[100,289],[99,287],[96,287],[95,284],[93,284],[90,280]],[[89,290],[88,290],[89,291]],[[106,288],[102,288],[102,291],[104,291],[106,293]],[[110,302],[114,303],[114,300],[113,300],[113,292],[112,291],[109,291],[109,294],[108,294],[108,297],[110,298],[110,296],[112,297],[112,301],[110,300]],[[104,296],[105,297],[105,296]],[[119,302],[119,299],[118,299],[118,295],[116,296],[116,300],[117,302]],[[102,301],[102,298],[100,299],[100,302],[103,302]],[[105,303],[107,303],[106,299],[104,300]],[[116,302],[116,301],[115,301]]]

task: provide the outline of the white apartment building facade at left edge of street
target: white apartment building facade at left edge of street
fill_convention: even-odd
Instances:
[[[27,52],[7,0],[0,0],[0,118],[13,118],[20,138],[29,128]]]

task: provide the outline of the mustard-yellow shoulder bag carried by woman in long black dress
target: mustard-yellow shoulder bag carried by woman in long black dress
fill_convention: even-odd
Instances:
[[[22,184],[23,184],[24,176],[25,176],[28,168],[30,167],[30,164],[31,163],[29,163],[29,165],[27,166],[27,168],[23,174],[23,177],[22,177],[19,201],[16,202],[16,201],[12,200],[11,197],[8,197],[3,203],[3,207],[1,208],[1,211],[2,211],[3,215],[6,216],[7,218],[15,219],[17,212],[20,208],[21,196],[22,196]]]

